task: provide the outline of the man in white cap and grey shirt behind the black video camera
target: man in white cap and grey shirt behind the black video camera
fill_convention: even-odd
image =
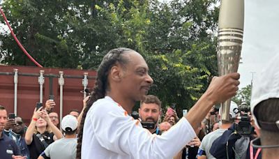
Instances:
[[[203,139],[202,143],[199,146],[199,151],[198,151],[198,159],[206,159],[206,158],[214,158],[209,150],[211,149],[212,143],[214,142],[215,139],[223,135],[223,133],[232,126],[232,123],[234,123],[234,118],[236,117],[236,113],[234,112],[234,109],[237,109],[236,103],[233,101],[231,102],[231,106],[229,107],[229,116],[230,119],[229,121],[222,121],[222,124],[218,130],[215,130],[213,132],[210,132],[207,134]],[[222,112],[220,109],[219,113]]]

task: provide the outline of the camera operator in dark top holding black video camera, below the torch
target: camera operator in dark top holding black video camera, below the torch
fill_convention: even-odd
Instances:
[[[257,154],[255,158],[261,158],[259,151],[250,149],[250,141],[255,138],[255,129],[252,127],[252,121],[249,109],[241,104],[238,110],[240,114],[236,117],[238,123],[234,123],[223,135],[216,139],[210,149],[210,153],[215,158],[250,158],[250,153]]]

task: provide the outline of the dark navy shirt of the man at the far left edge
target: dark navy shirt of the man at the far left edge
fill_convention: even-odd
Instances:
[[[17,144],[3,132],[0,137],[0,148],[1,159],[10,159],[13,155],[20,156],[20,149],[18,149]]]

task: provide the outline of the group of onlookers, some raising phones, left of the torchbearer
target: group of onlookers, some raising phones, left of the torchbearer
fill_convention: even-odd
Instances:
[[[84,98],[83,107],[88,99]],[[52,111],[54,106],[54,100],[47,100],[45,107],[36,107],[28,127],[20,116],[10,116],[13,113],[0,106],[0,158],[76,158],[82,114],[72,109],[59,125],[58,114]]]

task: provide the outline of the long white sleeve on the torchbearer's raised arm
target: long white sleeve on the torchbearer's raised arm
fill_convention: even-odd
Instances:
[[[90,115],[96,139],[105,149],[115,153],[133,158],[172,158],[196,136],[185,118],[163,135],[152,135],[122,107],[112,103],[110,107],[96,106],[92,106]]]

